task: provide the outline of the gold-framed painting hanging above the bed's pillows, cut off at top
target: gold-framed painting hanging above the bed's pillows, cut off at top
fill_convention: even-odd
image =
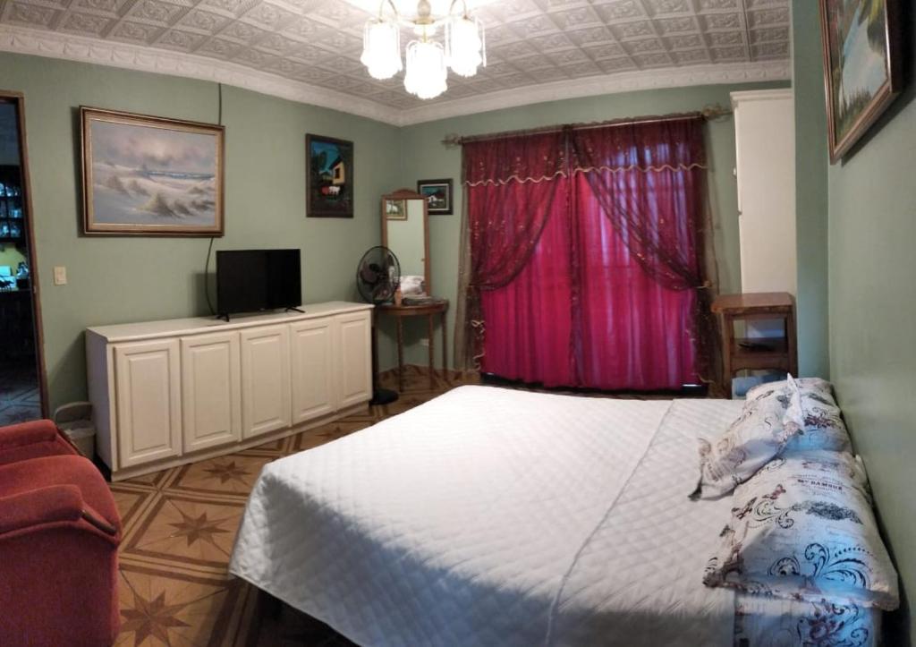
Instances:
[[[820,0],[830,161],[900,93],[899,0]]]

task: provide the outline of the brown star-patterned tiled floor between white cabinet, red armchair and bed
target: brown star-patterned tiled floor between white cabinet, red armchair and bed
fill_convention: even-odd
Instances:
[[[431,387],[422,369],[408,367],[405,392],[392,404],[234,455],[112,484],[125,529],[116,644],[350,644],[292,609],[264,613],[254,587],[228,578],[248,492],[268,462],[364,429],[461,383],[437,377]]]

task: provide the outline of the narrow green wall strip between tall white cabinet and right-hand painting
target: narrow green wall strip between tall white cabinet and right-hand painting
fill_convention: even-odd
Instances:
[[[827,114],[817,3],[792,4],[795,93],[795,235],[799,373],[829,378],[827,321]]]

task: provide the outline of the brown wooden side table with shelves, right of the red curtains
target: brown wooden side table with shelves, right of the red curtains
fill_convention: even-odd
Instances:
[[[712,310],[721,317],[723,378],[729,394],[739,370],[773,369],[798,375],[795,299],[789,292],[723,294],[713,302]],[[776,319],[783,323],[781,337],[735,336],[736,321]]]

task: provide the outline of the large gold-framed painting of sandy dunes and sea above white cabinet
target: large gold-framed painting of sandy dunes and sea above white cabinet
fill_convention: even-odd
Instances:
[[[224,128],[80,108],[86,234],[223,236]]]

